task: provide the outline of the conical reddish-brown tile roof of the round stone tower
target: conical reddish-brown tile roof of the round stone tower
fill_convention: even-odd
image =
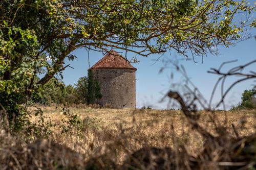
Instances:
[[[123,58],[116,51],[109,51],[102,59],[100,59],[96,64],[94,64],[91,69],[106,69],[106,68],[119,68],[119,69],[132,69],[137,70],[134,66],[130,64],[125,58]]]

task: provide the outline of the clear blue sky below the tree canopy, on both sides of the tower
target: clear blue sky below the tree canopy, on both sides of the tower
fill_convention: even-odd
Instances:
[[[250,34],[252,34],[252,37],[248,40],[242,41],[234,46],[230,46],[229,48],[220,47],[220,55],[218,56],[204,56],[203,63],[202,57],[196,58],[197,63],[185,60],[179,61],[179,64],[184,66],[190,80],[198,87],[198,89],[200,89],[206,100],[209,100],[211,90],[214,87],[215,82],[218,80],[218,76],[208,74],[207,70],[212,67],[218,68],[221,63],[225,61],[238,60],[236,63],[226,65],[223,70],[227,70],[233,66],[245,64],[246,62],[256,59],[256,40],[254,39],[256,29],[250,30]],[[73,85],[80,77],[87,76],[87,69],[89,68],[88,53],[86,50],[80,48],[74,51],[73,54],[76,55],[77,58],[73,61],[66,61],[66,63],[70,63],[74,69],[67,68],[63,71],[63,82],[66,85]],[[91,51],[89,55],[90,66],[94,65],[102,57],[102,53]],[[132,57],[134,57],[134,54],[132,53],[127,56],[129,59],[132,59]],[[137,57],[140,60],[139,64],[133,64],[133,66],[138,68],[136,71],[136,96],[138,108],[142,106],[151,106],[156,109],[166,109],[169,107],[167,100],[165,100],[165,102],[160,101],[168,89],[179,90],[182,92],[180,86],[171,86],[173,83],[178,83],[182,80],[179,72],[169,68],[171,64],[168,64],[167,68],[164,69],[161,74],[159,74],[159,70],[164,66],[164,63],[161,60],[174,60],[175,58],[180,60],[184,58],[172,52],[171,55],[170,53],[164,54],[158,62],[155,62],[158,57],[158,55],[152,55],[147,58]],[[255,71],[256,65],[254,65],[254,67],[250,67],[250,70]],[[172,72],[174,78],[170,79]],[[226,85],[230,84],[233,80],[234,79],[227,79]],[[255,85],[256,82],[247,81],[235,86],[225,100],[227,108],[233,104],[239,103],[241,101],[242,92],[246,89],[251,89],[253,87],[252,84]],[[214,103],[217,103],[218,99],[220,99],[220,92],[220,88],[218,88],[216,91],[216,98],[214,98]]]

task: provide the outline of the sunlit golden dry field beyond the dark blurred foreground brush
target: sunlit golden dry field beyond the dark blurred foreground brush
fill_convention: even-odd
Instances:
[[[61,107],[40,108],[57,125],[52,128],[52,139],[88,157],[108,153],[121,164],[125,155],[146,146],[174,148],[175,143],[184,143],[191,154],[203,148],[201,135],[190,128],[180,110],[71,107],[70,113],[79,115],[83,120],[82,131],[78,134],[75,130],[61,133],[63,119],[67,119]],[[29,109],[33,112],[36,107]],[[248,136],[256,131],[256,110],[216,111],[214,116],[217,124],[226,124],[231,136],[234,136],[232,124],[240,136]],[[35,117],[31,119],[35,121]],[[208,113],[201,111],[199,122],[215,134]]]

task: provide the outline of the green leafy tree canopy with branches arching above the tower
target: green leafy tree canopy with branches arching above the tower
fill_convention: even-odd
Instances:
[[[68,66],[64,59],[74,59],[70,53],[79,47],[114,47],[142,56],[166,50],[185,56],[214,53],[218,45],[245,38],[241,32],[246,26],[255,27],[249,17],[234,20],[253,9],[246,1],[232,0],[5,0],[0,54],[10,67],[4,68],[4,79],[29,61],[32,72],[46,67],[45,77],[37,82],[44,85]]]

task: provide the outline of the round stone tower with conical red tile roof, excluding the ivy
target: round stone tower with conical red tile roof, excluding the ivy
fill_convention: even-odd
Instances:
[[[136,108],[135,71],[129,61],[115,51],[108,52],[91,68],[93,79],[100,85],[99,105]]]

